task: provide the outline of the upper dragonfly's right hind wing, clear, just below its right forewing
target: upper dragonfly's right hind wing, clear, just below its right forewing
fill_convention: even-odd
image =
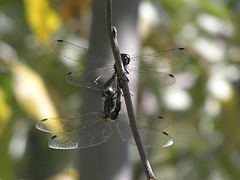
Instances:
[[[172,74],[159,71],[138,71],[136,68],[129,67],[129,87],[131,91],[142,91],[145,89],[155,89],[171,86],[175,83]]]

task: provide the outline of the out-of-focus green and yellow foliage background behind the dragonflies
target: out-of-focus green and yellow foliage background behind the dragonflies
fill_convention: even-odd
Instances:
[[[82,64],[60,57],[50,43],[64,39],[109,53],[104,49],[109,45],[101,47],[108,43],[104,3],[103,0],[0,2],[0,179],[84,176],[83,168],[80,171],[78,168],[81,162],[76,162],[79,150],[48,148],[51,136],[38,131],[35,124],[45,117],[74,114],[89,106],[83,88],[65,81],[66,73],[83,68]],[[122,52],[135,54],[174,47],[186,47],[191,52],[188,62],[170,70],[176,76],[173,86],[141,91],[134,96],[138,112],[160,114],[170,122],[166,132],[173,137],[174,144],[147,151],[155,176],[165,180],[240,179],[240,1],[113,3],[117,4],[113,8],[113,13],[117,12],[114,23]],[[127,12],[132,14],[126,15]],[[98,13],[102,16],[97,16]],[[105,35],[99,37],[101,33]],[[95,96],[99,97],[99,92]],[[101,110],[101,99],[96,104],[92,111]],[[105,145],[100,146],[104,149]],[[83,152],[92,156],[94,148]],[[113,150],[104,150],[105,156],[98,162],[102,168]],[[114,178],[105,179],[145,179],[136,147],[124,144],[124,150],[126,153],[118,157],[128,164],[127,170],[122,171],[126,177],[113,175]],[[109,162],[116,163],[111,159]],[[83,166],[84,163],[80,165]],[[112,172],[117,173],[116,169]]]

